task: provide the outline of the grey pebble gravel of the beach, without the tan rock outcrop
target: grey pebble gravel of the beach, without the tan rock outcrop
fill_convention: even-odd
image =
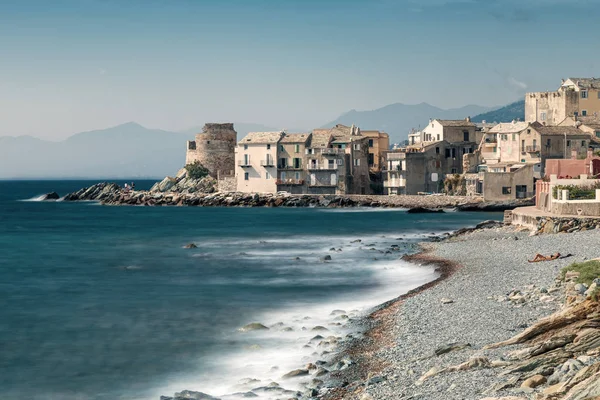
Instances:
[[[526,287],[548,288],[560,269],[574,261],[598,257],[600,233],[529,236],[512,227],[475,231],[439,243],[413,257],[423,264],[446,260],[460,265],[447,279],[420,288],[383,305],[366,318],[370,330],[352,343],[345,354],[357,364],[333,375],[337,388],[323,399],[465,399],[479,400],[490,386],[501,382],[495,369],[472,369],[419,378],[431,368],[465,362],[471,357],[500,359],[504,349],[483,347],[506,340],[539,318],[556,311],[561,298],[548,303],[514,304],[498,301]],[[573,254],[551,262],[528,263],[536,253]],[[442,301],[442,299],[444,299]],[[435,356],[449,343],[468,343],[460,351]],[[340,387],[343,386],[343,387]],[[499,391],[495,395],[515,395]]]

